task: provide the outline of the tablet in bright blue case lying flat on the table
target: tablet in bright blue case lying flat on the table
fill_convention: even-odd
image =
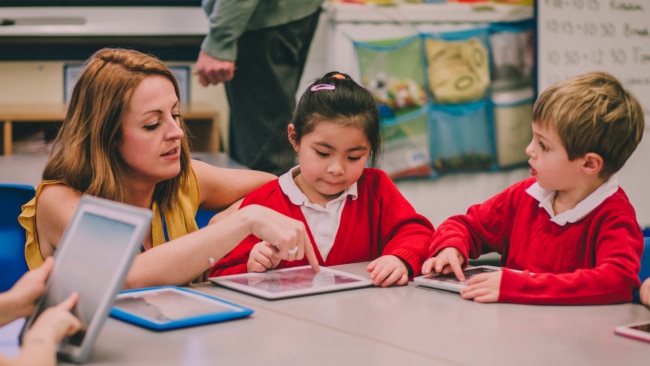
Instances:
[[[153,330],[168,330],[243,318],[253,310],[177,286],[122,291],[111,316]]]

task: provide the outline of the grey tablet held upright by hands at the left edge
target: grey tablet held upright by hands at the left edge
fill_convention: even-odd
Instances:
[[[20,339],[46,308],[77,292],[73,313],[83,327],[63,339],[57,353],[63,359],[84,362],[150,225],[150,210],[82,196],[54,252],[45,292],[27,318]]]

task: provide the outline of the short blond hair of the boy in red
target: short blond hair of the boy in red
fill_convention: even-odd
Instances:
[[[645,128],[636,98],[614,76],[599,71],[544,90],[533,106],[533,123],[555,129],[569,160],[589,152],[600,155],[603,179],[623,167]]]

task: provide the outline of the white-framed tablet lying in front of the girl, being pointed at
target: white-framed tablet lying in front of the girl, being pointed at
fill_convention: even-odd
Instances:
[[[310,266],[301,266],[262,273],[210,277],[209,280],[215,285],[267,300],[372,286],[372,281],[368,278],[322,266],[320,272],[314,272]]]

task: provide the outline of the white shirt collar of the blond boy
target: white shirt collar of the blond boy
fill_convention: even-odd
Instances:
[[[598,205],[603,203],[605,199],[616,193],[618,190],[618,178],[616,175],[610,177],[605,183],[601,184],[589,196],[580,201],[576,207],[571,210],[562,212],[555,215],[553,212],[553,199],[555,198],[556,191],[549,191],[539,186],[535,182],[532,186],[528,187],[526,193],[539,201],[539,207],[543,207],[546,212],[551,216],[551,221],[564,226],[567,223],[574,223],[580,221],[583,217],[587,216]]]

